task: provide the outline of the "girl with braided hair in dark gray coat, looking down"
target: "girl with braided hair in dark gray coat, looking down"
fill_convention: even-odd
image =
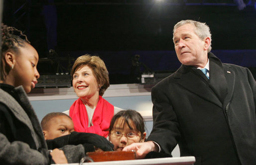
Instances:
[[[63,151],[49,151],[26,93],[35,87],[38,54],[21,31],[1,24],[0,164],[67,163]]]

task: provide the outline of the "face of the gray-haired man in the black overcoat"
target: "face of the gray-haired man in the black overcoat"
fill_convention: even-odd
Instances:
[[[194,29],[194,25],[185,24],[174,31],[175,51],[182,64],[203,68],[208,60],[207,45],[210,38],[207,37],[201,40]]]

